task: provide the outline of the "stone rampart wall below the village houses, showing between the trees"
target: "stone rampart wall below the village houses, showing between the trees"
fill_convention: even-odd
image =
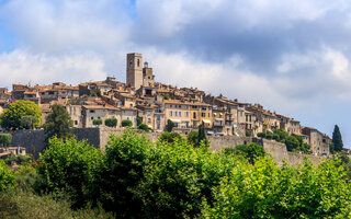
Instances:
[[[107,127],[73,128],[72,132],[73,135],[76,135],[77,140],[87,140],[88,143],[94,146],[95,148],[104,149],[110,139],[110,135],[114,134],[116,136],[121,136],[123,134],[123,129]],[[141,132],[143,131],[140,131],[140,134]],[[146,136],[151,141],[156,141],[160,134],[147,132]],[[283,160],[295,166],[298,164],[303,164],[303,161],[306,158],[309,159],[314,164],[318,164],[322,160],[322,157],[288,152],[284,143],[276,142],[274,140],[257,138],[252,139],[248,137],[237,136],[208,136],[208,140],[211,142],[210,149],[214,152],[220,151],[223,148],[234,148],[238,145],[257,142],[263,146],[267,153],[271,154],[271,157],[280,164],[282,164]],[[44,141],[44,130],[18,130],[13,134],[12,137],[13,146],[21,146],[26,148],[26,152],[34,154],[34,158],[38,158],[38,153],[43,151],[45,147]]]

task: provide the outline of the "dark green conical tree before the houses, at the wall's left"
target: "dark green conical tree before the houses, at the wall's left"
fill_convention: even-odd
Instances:
[[[46,142],[54,136],[57,136],[57,138],[71,138],[73,122],[66,108],[58,104],[54,104],[52,111],[53,112],[47,115],[46,123],[44,124]]]

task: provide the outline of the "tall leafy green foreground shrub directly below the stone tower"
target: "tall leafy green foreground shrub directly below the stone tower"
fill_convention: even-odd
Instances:
[[[94,184],[100,189],[99,200],[117,218],[143,218],[143,201],[136,194],[148,163],[149,147],[149,140],[132,131],[110,136]]]

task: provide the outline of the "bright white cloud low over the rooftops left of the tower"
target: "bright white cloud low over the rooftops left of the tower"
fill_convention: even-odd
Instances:
[[[0,54],[0,85],[29,82],[53,83],[54,81],[77,84],[103,79],[106,76],[103,67],[104,61],[90,53],[57,57],[14,50]]]

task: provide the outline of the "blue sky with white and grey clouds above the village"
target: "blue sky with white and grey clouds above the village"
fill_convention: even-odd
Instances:
[[[351,148],[348,0],[0,0],[0,87],[115,76],[141,53],[160,82],[294,117]]]

